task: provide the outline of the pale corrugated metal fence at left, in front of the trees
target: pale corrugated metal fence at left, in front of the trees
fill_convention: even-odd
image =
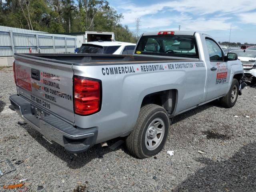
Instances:
[[[76,37],[50,34],[40,31],[0,26],[0,56],[13,56],[14,53],[63,53],[74,52]]]

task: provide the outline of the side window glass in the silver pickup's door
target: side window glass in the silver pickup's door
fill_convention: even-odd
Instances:
[[[211,39],[206,38],[206,45],[208,47],[210,61],[223,61],[222,50],[220,47]]]

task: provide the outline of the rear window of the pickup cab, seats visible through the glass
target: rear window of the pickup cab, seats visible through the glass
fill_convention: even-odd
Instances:
[[[187,35],[142,36],[135,54],[199,58],[195,37]]]

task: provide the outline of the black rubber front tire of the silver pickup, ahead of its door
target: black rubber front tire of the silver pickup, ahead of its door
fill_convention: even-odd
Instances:
[[[234,99],[232,99],[232,91],[234,90],[234,88],[236,87],[236,97],[234,97]],[[225,107],[225,108],[231,108],[236,104],[236,100],[238,98],[238,92],[239,92],[239,83],[237,79],[233,79],[230,90],[228,91],[228,94],[226,94],[226,96],[220,98],[220,104],[221,106]]]

